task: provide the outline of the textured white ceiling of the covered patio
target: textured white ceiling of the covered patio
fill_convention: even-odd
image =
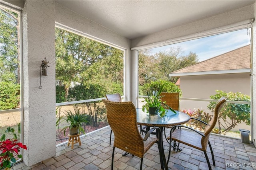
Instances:
[[[255,3],[255,0],[55,1],[128,39],[164,31]]]

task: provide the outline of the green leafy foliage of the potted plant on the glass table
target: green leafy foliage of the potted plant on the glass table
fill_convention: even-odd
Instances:
[[[162,102],[161,98],[163,96],[160,96],[161,92],[164,89],[165,84],[160,84],[158,85],[158,90],[153,91],[153,95],[150,96],[149,93],[147,92],[148,98],[145,98],[145,101],[142,102],[146,102],[143,106],[142,106],[142,111],[148,113],[149,107],[156,107],[158,109],[158,112],[160,113],[160,117],[164,117],[166,116],[167,113],[167,109],[170,109],[172,112],[176,113],[176,111],[174,109],[172,109],[171,107],[169,107],[168,105],[165,104],[166,101]]]

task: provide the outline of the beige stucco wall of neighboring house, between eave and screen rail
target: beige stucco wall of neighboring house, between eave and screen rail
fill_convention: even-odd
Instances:
[[[217,74],[202,76],[181,76],[180,89],[184,98],[209,99],[216,94],[215,90],[241,92],[250,96],[250,75]]]

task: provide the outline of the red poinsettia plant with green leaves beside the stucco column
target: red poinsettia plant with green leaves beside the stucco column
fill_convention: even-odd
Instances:
[[[14,139],[6,140],[5,134],[2,135],[0,142],[0,169],[11,168],[16,162],[16,158],[22,158],[22,155],[19,154],[21,148],[27,149],[26,145],[18,142],[16,134],[14,135]]]

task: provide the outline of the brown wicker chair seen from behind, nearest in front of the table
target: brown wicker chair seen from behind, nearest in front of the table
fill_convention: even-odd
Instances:
[[[161,130],[159,127],[153,127],[144,137],[140,135],[138,130],[136,108],[132,102],[111,102],[105,99],[102,99],[102,102],[106,105],[108,123],[114,132],[112,170],[114,164],[114,150],[116,147],[140,157],[140,169],[142,169],[144,154],[154,143],[158,144],[160,159],[162,158]],[[125,129],[122,128],[123,125],[125,125]],[[158,133],[159,139],[149,137],[149,134],[154,130]]]

